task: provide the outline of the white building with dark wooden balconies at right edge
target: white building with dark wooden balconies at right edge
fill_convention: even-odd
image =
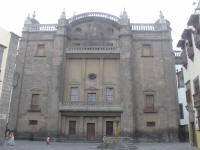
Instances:
[[[182,64],[187,110],[189,112],[190,143],[200,147],[200,3],[184,29],[178,47],[182,49],[176,62]]]

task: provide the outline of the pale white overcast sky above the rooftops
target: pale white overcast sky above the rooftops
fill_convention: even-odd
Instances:
[[[154,23],[161,10],[171,22],[173,49],[176,50],[197,3],[198,0],[2,0],[0,26],[21,36],[28,13],[32,16],[35,11],[41,24],[54,24],[64,8],[67,18],[84,12],[105,12],[119,17],[125,8],[131,23]]]

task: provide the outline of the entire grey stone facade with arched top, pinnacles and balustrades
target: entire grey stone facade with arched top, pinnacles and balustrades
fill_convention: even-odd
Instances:
[[[27,17],[9,127],[21,138],[177,139],[171,28],[84,13],[58,24]]]

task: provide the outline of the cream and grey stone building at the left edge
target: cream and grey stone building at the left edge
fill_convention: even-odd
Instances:
[[[9,118],[19,36],[0,27],[0,143]]]

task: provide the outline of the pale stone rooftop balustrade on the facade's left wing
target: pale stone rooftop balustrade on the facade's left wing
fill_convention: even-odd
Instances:
[[[29,32],[52,32],[56,30],[57,24],[29,24],[23,28],[23,31]]]

